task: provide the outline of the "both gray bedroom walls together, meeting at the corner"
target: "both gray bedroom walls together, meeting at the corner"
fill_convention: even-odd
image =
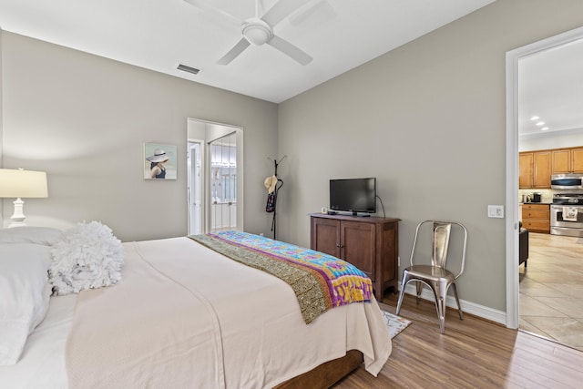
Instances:
[[[279,107],[4,32],[2,163],[48,172],[50,197],[26,201],[31,224],[102,220],[124,241],[179,236],[186,162],[177,181],[143,180],[143,142],[184,150],[187,118],[240,126],[245,230],[271,236],[267,157],[288,156],[278,237],[305,246],[328,179],[374,176],[387,216],[403,220],[402,263],[419,220],[463,221],[462,299],[504,311],[505,223],[486,206],[505,203],[506,51],[578,26],[580,0],[497,0]]]

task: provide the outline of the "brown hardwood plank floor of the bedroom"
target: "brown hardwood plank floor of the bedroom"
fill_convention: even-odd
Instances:
[[[395,312],[397,295],[381,305]],[[583,352],[447,310],[445,334],[433,302],[405,296],[401,316],[413,321],[393,339],[393,353],[378,377],[363,366],[336,389],[374,388],[580,388]]]

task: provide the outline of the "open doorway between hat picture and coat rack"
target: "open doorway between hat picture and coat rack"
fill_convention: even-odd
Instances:
[[[243,230],[243,130],[188,119],[189,235]]]

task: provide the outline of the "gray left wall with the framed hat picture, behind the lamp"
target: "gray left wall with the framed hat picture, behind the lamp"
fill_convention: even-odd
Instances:
[[[4,167],[48,177],[49,198],[26,200],[29,225],[101,220],[122,241],[186,235],[187,118],[200,118],[243,128],[245,230],[269,232],[277,105],[5,31],[1,53]],[[177,180],[142,178],[144,142],[178,146]]]

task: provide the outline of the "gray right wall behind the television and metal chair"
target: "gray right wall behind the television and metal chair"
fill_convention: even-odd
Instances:
[[[328,180],[377,178],[387,216],[469,230],[461,298],[506,311],[506,51],[583,26],[579,0],[498,0],[279,107],[280,237],[310,244]]]

